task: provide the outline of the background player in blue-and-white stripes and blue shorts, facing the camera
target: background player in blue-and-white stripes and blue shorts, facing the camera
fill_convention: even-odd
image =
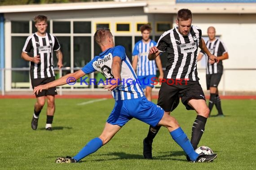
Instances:
[[[141,87],[144,89],[146,98],[149,101],[152,100],[152,88],[154,88],[154,85],[151,79],[156,77],[156,65],[159,69],[159,79],[163,78],[160,56],[154,60],[148,59],[149,49],[156,45],[156,42],[150,39],[151,30],[152,28],[148,24],[140,27],[142,39],[135,44],[132,52],[132,68],[136,71]]]

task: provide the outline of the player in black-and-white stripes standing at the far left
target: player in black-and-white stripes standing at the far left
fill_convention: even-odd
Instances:
[[[34,21],[37,32],[26,39],[21,54],[22,59],[30,61],[30,76],[33,88],[55,80],[53,71],[53,51],[56,52],[58,68],[60,69],[63,66],[60,44],[55,36],[46,32],[47,17],[38,15],[34,18]],[[56,94],[57,91],[55,87],[35,94],[36,102],[31,121],[33,130],[37,129],[39,114],[43,109],[45,100],[47,101],[45,129],[52,130],[53,115],[55,112],[54,99]]]

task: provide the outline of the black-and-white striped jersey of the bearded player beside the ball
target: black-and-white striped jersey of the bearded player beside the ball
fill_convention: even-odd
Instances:
[[[201,37],[202,31],[197,26],[191,26],[187,36],[181,35],[177,26],[161,35],[156,47],[168,54],[164,78],[199,80],[196,64]]]

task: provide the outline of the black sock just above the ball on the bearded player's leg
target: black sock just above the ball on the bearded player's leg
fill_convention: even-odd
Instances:
[[[203,117],[201,115],[196,116],[196,119],[192,126],[192,135],[190,141],[194,149],[197,149],[197,145],[199,144],[199,141],[203,136],[206,121],[206,117]]]

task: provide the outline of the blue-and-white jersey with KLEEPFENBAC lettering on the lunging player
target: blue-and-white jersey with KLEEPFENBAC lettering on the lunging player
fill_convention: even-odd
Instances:
[[[122,82],[111,91],[115,101],[141,98],[144,96],[141,85],[137,82],[137,76],[132,68],[128,57],[125,54],[123,46],[116,46],[103,51],[100,55],[95,56],[82,71],[86,74],[92,72],[101,72],[107,79],[114,78],[111,72],[113,57],[121,58],[121,79]]]

